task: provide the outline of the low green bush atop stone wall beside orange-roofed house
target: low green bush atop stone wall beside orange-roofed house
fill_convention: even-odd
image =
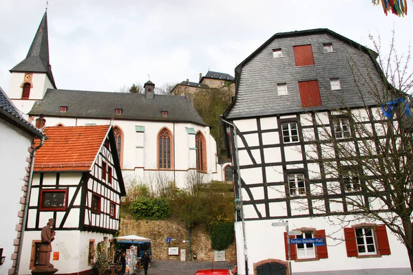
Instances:
[[[167,219],[171,215],[169,203],[163,198],[140,197],[129,206],[135,219]]]

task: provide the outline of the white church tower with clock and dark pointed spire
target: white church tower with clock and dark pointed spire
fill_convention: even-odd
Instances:
[[[36,100],[42,100],[47,89],[56,89],[49,63],[47,12],[41,19],[28,55],[10,72],[8,96],[23,113],[28,113]]]

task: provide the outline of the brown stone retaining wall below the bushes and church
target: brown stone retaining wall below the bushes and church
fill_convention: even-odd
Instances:
[[[138,235],[151,239],[153,259],[173,259],[179,260],[179,256],[168,256],[167,237],[176,239],[171,241],[169,247],[185,249],[187,251],[187,261],[189,261],[189,243],[188,230],[178,221],[135,221],[131,217],[125,217],[120,221],[119,236]],[[191,232],[191,249],[196,253],[196,261],[213,261],[213,252],[211,249],[211,239],[203,227],[194,228]],[[225,252],[227,262],[236,262],[235,241]]]

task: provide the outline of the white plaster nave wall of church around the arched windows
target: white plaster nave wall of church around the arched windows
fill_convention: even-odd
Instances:
[[[189,135],[185,127],[193,128],[195,132],[202,131],[207,143],[207,177],[218,179],[216,173],[216,142],[209,132],[208,126],[201,126],[192,123],[173,123],[173,122],[147,122],[130,120],[103,120],[85,118],[50,118],[45,117],[46,126],[56,126],[62,123],[65,126],[83,126],[85,124],[105,125],[112,124],[118,126],[123,131],[123,175],[125,184],[136,179],[137,181],[149,184],[153,173],[158,170],[158,141],[157,136],[163,127],[167,127],[173,135],[175,159],[175,173],[167,170],[167,175],[171,180],[175,178],[178,187],[182,188],[185,184],[187,171],[193,168],[191,156],[193,151],[190,147],[195,145],[189,138],[195,139],[195,135]],[[136,133],[135,126],[145,126],[144,133]],[[142,137],[143,135],[143,137]],[[136,148],[143,146],[143,148]],[[143,154],[143,155],[142,155]],[[194,159],[195,160],[195,159]]]

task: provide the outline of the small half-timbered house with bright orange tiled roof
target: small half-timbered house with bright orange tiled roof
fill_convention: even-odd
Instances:
[[[60,274],[86,274],[95,245],[119,229],[125,186],[112,126],[46,127],[39,149],[28,206],[19,274],[37,263],[41,228],[55,221],[50,261]]]

